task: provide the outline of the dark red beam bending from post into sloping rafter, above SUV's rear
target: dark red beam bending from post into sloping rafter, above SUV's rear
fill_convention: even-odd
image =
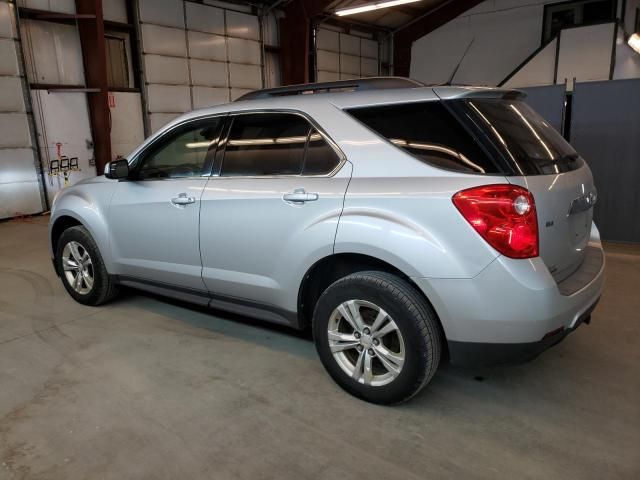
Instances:
[[[450,22],[483,0],[450,0],[427,12],[418,20],[399,29],[393,35],[393,73],[408,77],[411,68],[411,45],[413,42]]]

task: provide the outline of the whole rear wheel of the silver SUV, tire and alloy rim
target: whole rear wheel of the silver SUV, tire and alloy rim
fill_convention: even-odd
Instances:
[[[373,403],[408,400],[440,362],[435,312],[408,282],[386,272],[358,272],[329,286],[316,305],[313,332],[329,375]]]

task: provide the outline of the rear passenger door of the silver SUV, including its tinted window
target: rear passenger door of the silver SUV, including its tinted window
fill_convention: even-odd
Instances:
[[[202,195],[203,279],[213,305],[257,303],[288,322],[304,271],[333,252],[351,164],[301,114],[229,121]]]

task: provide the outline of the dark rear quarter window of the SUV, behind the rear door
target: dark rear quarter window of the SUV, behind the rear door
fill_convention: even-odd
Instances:
[[[467,173],[499,173],[473,136],[441,102],[363,107],[348,113],[430,165]]]

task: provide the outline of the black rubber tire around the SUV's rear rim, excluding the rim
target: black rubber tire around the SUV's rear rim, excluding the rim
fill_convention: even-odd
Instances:
[[[340,367],[331,352],[329,321],[334,310],[348,300],[381,307],[402,334],[404,364],[397,377],[386,385],[359,383]],[[333,380],[352,395],[372,403],[389,405],[408,400],[431,380],[440,362],[442,334],[433,308],[407,281],[386,272],[358,272],[329,286],[315,307],[313,335],[322,364]]]

